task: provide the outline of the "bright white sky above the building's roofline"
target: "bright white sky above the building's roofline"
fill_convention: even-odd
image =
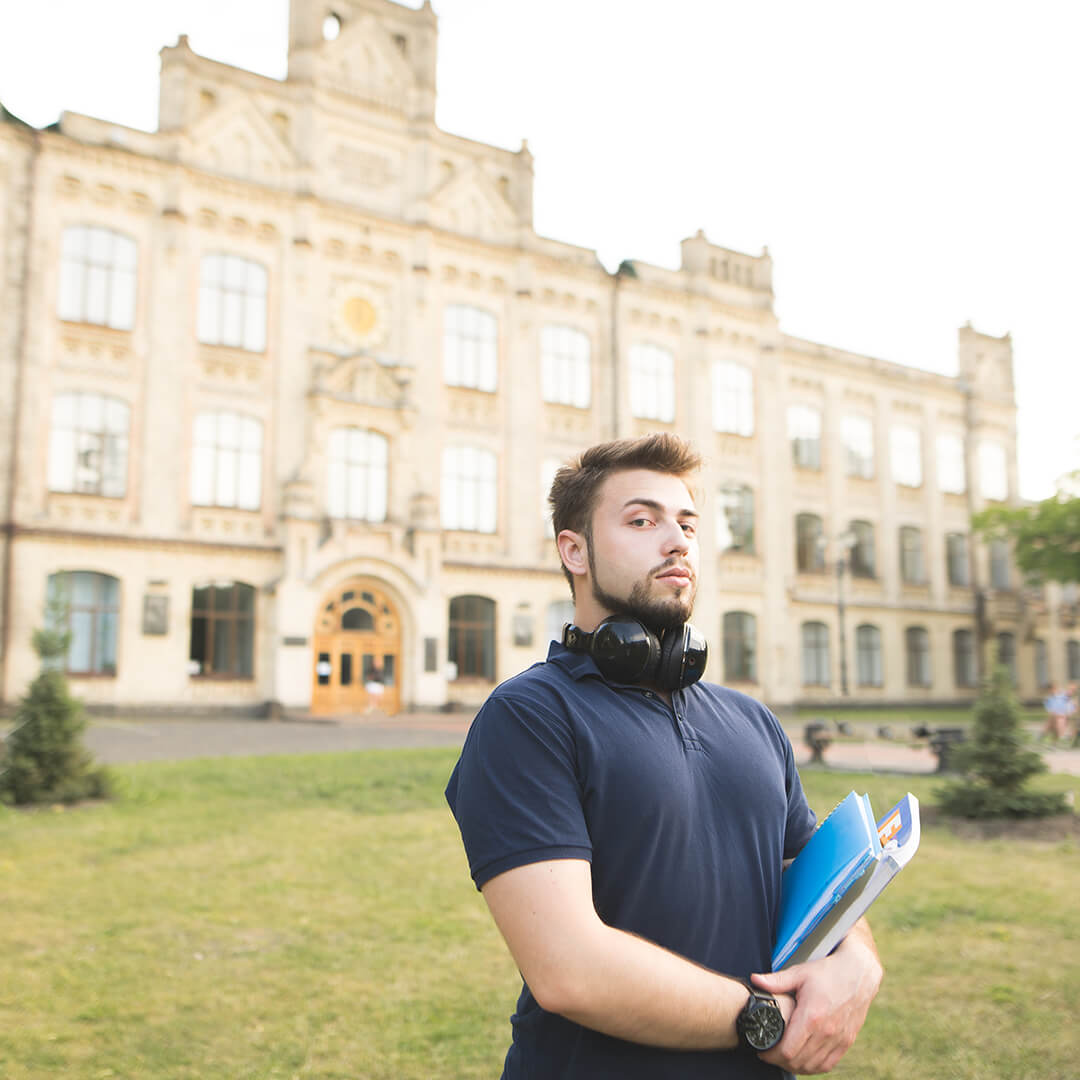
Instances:
[[[410,0],[418,6],[420,0]],[[441,127],[536,159],[537,231],[773,258],[784,330],[955,374],[1013,336],[1021,494],[1080,465],[1080,5],[434,0]],[[282,78],[287,0],[0,0],[0,102],[153,130],[158,51]]]

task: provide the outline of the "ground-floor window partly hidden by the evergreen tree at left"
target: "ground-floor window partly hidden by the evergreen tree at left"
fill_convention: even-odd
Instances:
[[[71,635],[68,674],[116,675],[119,580],[91,570],[51,573],[46,596],[50,627]]]

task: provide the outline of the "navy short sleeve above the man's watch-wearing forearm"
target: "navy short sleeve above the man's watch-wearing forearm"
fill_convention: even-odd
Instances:
[[[476,888],[546,859],[592,858],[573,732],[536,702],[494,696],[446,787]]]

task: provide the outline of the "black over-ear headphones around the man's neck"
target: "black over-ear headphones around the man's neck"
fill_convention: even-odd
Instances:
[[[697,683],[708,660],[708,644],[690,623],[657,637],[648,626],[624,615],[608,616],[591,634],[567,623],[563,644],[592,657],[605,678],[650,683],[661,690],[681,690]]]

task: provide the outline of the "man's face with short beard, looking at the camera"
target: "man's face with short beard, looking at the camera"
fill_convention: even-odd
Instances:
[[[687,622],[699,554],[698,513],[679,477],[635,469],[604,482],[589,541],[589,588],[603,612],[654,631]]]

